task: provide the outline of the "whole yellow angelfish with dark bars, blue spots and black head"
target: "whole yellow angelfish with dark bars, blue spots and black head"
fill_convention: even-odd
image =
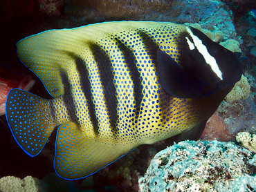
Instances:
[[[6,119],[30,157],[57,128],[54,168],[99,171],[141,144],[199,139],[239,81],[241,52],[183,24],[111,21],[21,39],[17,55],[53,99],[12,89]]]

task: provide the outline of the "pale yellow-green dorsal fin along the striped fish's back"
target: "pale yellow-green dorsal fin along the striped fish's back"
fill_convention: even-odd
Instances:
[[[158,25],[156,22],[143,22]],[[91,44],[118,29],[142,27],[140,22],[120,21],[97,23],[79,28],[48,30],[21,39],[17,43],[17,54],[22,63],[32,70],[44,83],[53,97],[63,94],[64,82],[60,73],[67,73],[68,66],[75,64],[77,57],[84,59],[91,55]],[[60,72],[60,70],[62,72]]]

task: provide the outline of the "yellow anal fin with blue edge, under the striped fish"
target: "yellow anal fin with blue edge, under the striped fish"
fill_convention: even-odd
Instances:
[[[111,144],[84,136],[73,122],[58,128],[55,147],[55,171],[67,180],[87,177],[124,155]]]

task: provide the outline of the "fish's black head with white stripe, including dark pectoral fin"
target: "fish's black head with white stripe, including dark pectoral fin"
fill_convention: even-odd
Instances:
[[[158,51],[158,77],[174,97],[207,97],[232,87],[246,66],[241,52],[231,52],[209,39],[200,30],[186,26],[178,41],[179,60]]]

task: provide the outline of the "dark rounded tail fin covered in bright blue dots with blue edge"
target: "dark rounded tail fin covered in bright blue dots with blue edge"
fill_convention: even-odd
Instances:
[[[34,157],[46,144],[55,125],[49,113],[49,100],[12,89],[6,99],[6,119],[19,146]]]

